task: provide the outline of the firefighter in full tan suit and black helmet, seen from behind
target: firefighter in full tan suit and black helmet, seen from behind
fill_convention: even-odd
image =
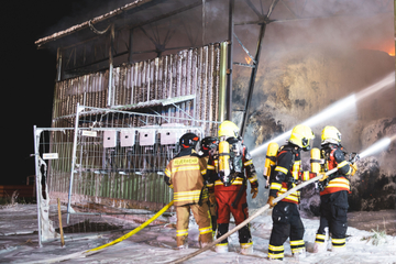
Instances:
[[[205,179],[207,162],[195,151],[199,138],[186,133],[179,140],[180,152],[167,164],[165,183],[174,190],[176,208],[176,243],[177,249],[188,249],[188,223],[190,210],[199,227],[199,243],[204,248],[212,241],[212,229],[207,204]],[[201,194],[204,191],[204,194]]]

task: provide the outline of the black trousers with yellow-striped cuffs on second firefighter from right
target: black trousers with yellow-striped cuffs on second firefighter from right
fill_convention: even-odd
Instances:
[[[272,213],[273,229],[270,237],[268,257],[283,260],[284,243],[289,238],[292,253],[305,251],[304,224],[296,204],[279,201]]]

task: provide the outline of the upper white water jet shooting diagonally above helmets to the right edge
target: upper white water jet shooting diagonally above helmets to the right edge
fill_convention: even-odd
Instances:
[[[395,73],[392,73],[392,74],[387,75],[384,79],[375,82],[372,86],[369,86],[367,88],[359,91],[358,94],[353,94],[351,96],[348,96],[348,97],[330,105],[329,107],[327,107],[324,110],[322,110],[318,114],[305,120],[302,122],[302,124],[306,124],[311,128],[311,127],[314,127],[320,122],[323,122],[328,119],[331,119],[333,117],[339,117],[343,112],[354,108],[356,106],[358,101],[360,101],[366,97],[373,96],[374,94],[381,91],[382,89],[389,88],[391,85],[394,82],[395,82]],[[285,133],[276,136],[275,139],[265,142],[261,146],[257,146],[256,148],[251,151],[251,155],[254,157],[257,154],[264,152],[271,142],[283,143],[285,140],[288,139],[290,133],[292,133],[292,130],[288,130]]]

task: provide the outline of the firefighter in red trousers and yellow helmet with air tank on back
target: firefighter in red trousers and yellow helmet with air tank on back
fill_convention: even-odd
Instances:
[[[219,125],[218,155],[209,160],[207,167],[209,178],[215,185],[209,189],[210,199],[216,199],[218,205],[218,239],[229,230],[230,213],[232,213],[235,224],[240,224],[249,218],[246,180],[250,182],[253,199],[258,193],[257,175],[252,157],[238,132],[239,128],[231,121],[224,121]],[[239,230],[239,242],[241,254],[253,253],[249,224]],[[218,243],[215,250],[218,253],[228,252],[228,239]]]

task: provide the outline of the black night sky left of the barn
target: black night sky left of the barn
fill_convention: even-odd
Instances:
[[[66,30],[128,0],[3,1],[2,174],[0,185],[25,184],[34,175],[33,125],[51,128],[56,51],[37,50],[41,37]],[[99,9],[100,7],[100,9]],[[6,157],[6,158],[4,158]]]

